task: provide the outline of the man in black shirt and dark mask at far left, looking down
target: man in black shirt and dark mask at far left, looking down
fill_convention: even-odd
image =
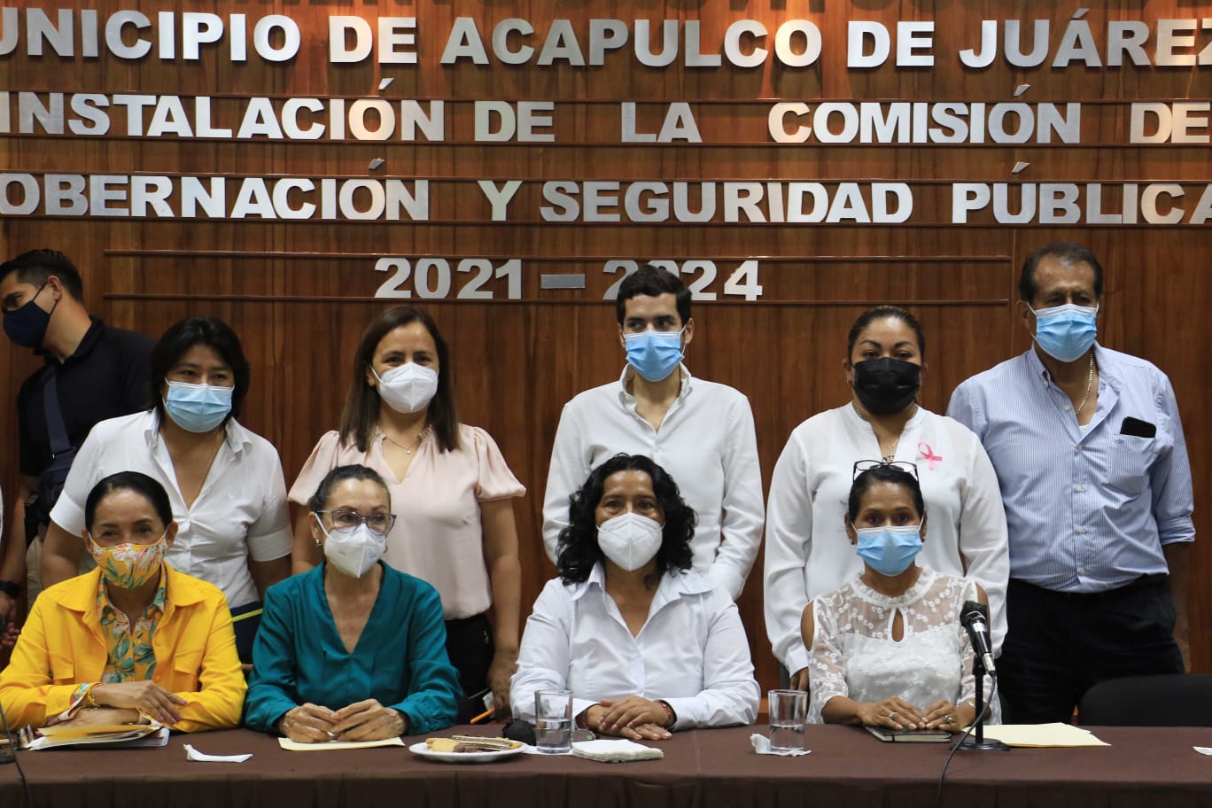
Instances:
[[[80,273],[53,250],[34,250],[0,264],[0,311],[8,339],[45,361],[17,395],[21,480],[10,498],[12,522],[0,537],[0,615],[15,621],[21,584],[29,588],[30,606],[38,594],[41,535],[53,505],[45,495],[39,499],[39,489],[46,488],[40,481],[53,460],[46,385],[53,377],[68,442],[80,448],[97,422],[148,406],[152,340],[90,316]]]

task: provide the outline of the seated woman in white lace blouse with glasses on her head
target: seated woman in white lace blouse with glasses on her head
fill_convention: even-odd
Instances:
[[[926,538],[914,464],[861,460],[854,471],[845,523],[863,572],[804,609],[808,720],[964,729],[976,718],[976,683],[960,609],[987,603],[984,590],[914,562]]]

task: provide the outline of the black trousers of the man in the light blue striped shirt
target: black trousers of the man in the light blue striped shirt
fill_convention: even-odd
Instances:
[[[1098,682],[1183,672],[1165,577],[1090,595],[1012,579],[1006,619],[997,660],[1005,723],[1068,722]]]

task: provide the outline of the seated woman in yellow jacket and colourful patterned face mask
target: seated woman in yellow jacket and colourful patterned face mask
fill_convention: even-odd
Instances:
[[[235,727],[246,689],[223,594],[164,561],[177,534],[159,482],[122,471],[85,505],[97,569],[34,602],[0,672],[10,726],[159,721]]]

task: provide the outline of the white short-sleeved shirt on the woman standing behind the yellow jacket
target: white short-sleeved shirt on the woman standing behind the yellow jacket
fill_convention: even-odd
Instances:
[[[172,504],[178,531],[168,563],[222,589],[231,608],[261,600],[248,558],[273,561],[291,552],[282,463],[269,441],[234,418],[224,429],[202,489],[185,508],[154,409],[98,423],[72,462],[51,521],[79,537],[93,486],[119,471],[142,471],[164,486]]]

